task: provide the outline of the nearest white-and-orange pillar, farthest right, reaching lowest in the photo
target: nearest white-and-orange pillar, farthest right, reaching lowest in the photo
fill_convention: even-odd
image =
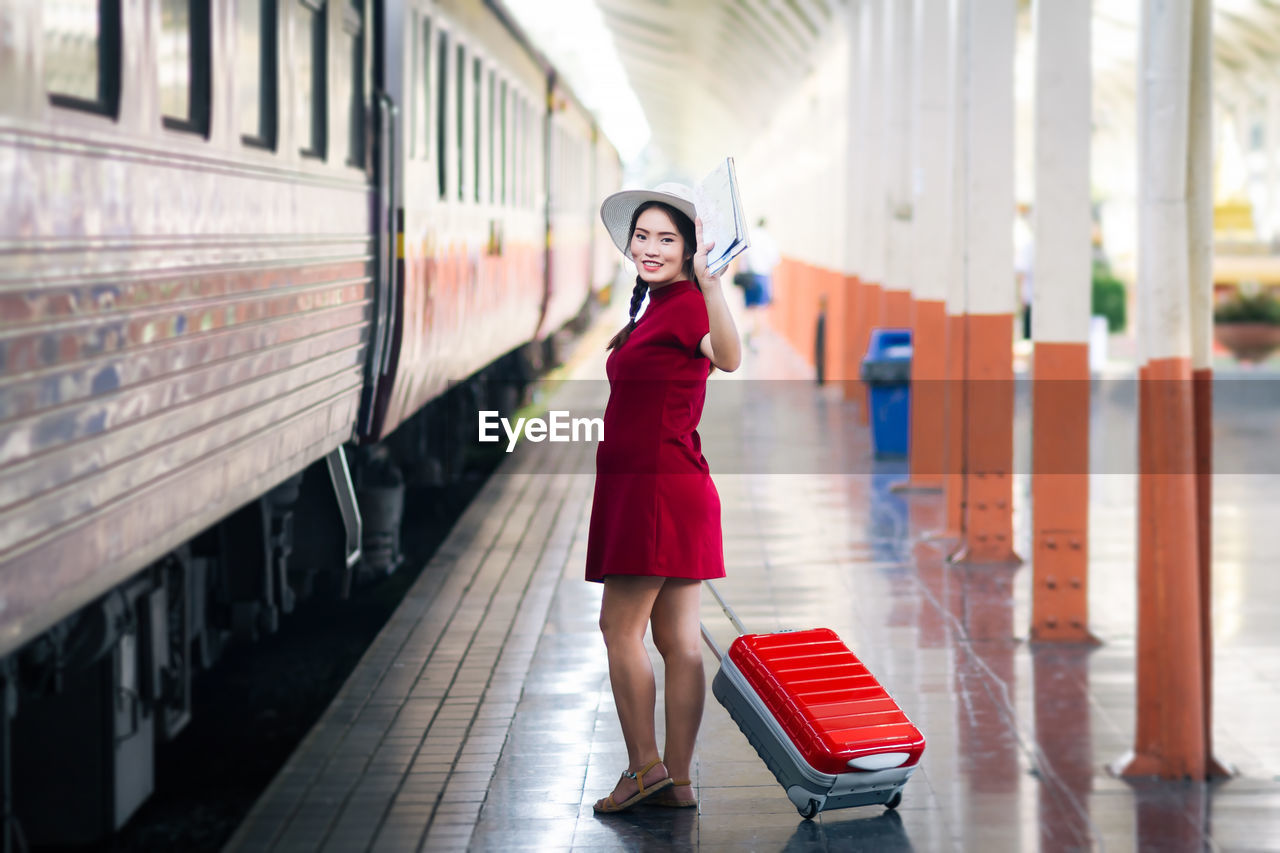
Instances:
[[[1199,780],[1207,753],[1190,357],[1189,225],[1198,219],[1188,204],[1194,5],[1143,0],[1142,6],[1138,715],[1134,756],[1123,772]]]

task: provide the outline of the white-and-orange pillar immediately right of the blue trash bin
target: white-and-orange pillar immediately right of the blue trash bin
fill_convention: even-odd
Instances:
[[[911,183],[915,251],[910,252],[910,485],[942,488],[947,364],[947,277],[951,218],[951,38],[947,0],[915,0],[915,168]]]

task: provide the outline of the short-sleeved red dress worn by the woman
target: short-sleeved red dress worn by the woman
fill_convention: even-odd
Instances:
[[[631,337],[604,362],[588,580],[724,576],[719,494],[698,435],[710,373],[698,345],[709,329],[703,295],[673,282],[649,292]]]

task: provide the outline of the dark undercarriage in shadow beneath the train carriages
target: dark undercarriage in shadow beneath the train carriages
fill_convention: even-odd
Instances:
[[[4,849],[124,826],[155,790],[157,748],[198,713],[198,674],[307,598],[394,573],[406,484],[456,483],[476,410],[513,412],[548,356],[527,345],[387,439],[316,460],[0,660]]]

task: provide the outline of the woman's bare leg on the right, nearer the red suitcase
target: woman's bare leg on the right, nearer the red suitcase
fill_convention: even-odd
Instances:
[[[653,642],[666,663],[667,748],[663,761],[672,779],[692,779],[694,742],[703,721],[707,676],[698,628],[700,580],[668,578],[653,605]],[[687,788],[671,789],[689,799]]]

